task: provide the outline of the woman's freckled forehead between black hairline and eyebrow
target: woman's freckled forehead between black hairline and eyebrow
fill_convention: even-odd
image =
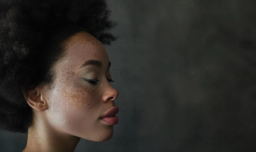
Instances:
[[[95,37],[79,32],[67,40],[67,55],[63,60],[62,67],[78,69],[87,60],[99,60],[103,64],[108,63],[108,54],[102,43]]]

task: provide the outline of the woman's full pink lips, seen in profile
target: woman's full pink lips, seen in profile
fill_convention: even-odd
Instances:
[[[105,113],[100,119],[105,121],[110,125],[115,125],[118,123],[118,117],[116,114],[119,112],[118,107],[111,108],[107,113]],[[112,117],[111,117],[112,116]]]

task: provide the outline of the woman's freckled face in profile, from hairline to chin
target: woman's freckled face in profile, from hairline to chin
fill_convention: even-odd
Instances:
[[[90,141],[110,139],[118,118],[101,119],[116,107],[118,97],[109,83],[109,66],[108,54],[95,37],[86,32],[70,37],[67,56],[54,67],[53,87],[42,94],[49,106],[45,110],[46,127]]]

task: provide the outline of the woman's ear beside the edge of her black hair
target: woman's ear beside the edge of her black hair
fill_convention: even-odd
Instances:
[[[38,112],[48,109],[48,104],[42,95],[42,91],[42,89],[36,87],[28,92],[27,103]]]

